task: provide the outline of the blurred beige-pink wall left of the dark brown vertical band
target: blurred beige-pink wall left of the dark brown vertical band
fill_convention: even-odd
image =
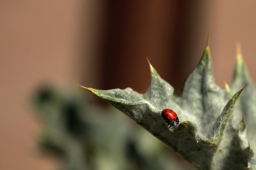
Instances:
[[[44,81],[77,87],[81,20],[95,25],[94,8],[80,0],[0,1],[0,169],[55,169],[36,149],[29,95]]]

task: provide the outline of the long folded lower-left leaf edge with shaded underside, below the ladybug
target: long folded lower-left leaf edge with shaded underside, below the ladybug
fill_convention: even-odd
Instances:
[[[182,122],[180,125],[170,130],[163,118],[161,118],[161,110],[157,109],[157,106],[153,106],[147,99],[140,97],[138,93],[133,92],[131,89],[86,89],[124,112],[154,136],[161,139],[166,145],[173,148],[175,152],[178,152],[188,159],[189,162],[195,164],[195,166],[200,168],[209,167],[207,162],[202,159],[202,155],[206,154],[205,150],[214,150],[215,146],[209,145],[211,141],[200,134],[196,125],[192,122]],[[124,94],[130,94],[132,97],[130,99],[118,98],[122,97]],[[211,152],[207,154],[207,157],[209,158],[208,162],[211,161]]]

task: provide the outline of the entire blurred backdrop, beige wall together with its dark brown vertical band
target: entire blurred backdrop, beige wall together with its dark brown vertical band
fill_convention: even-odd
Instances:
[[[56,167],[56,160],[36,151],[40,124],[28,107],[29,94],[44,81],[63,87],[81,83],[145,92],[148,57],[180,91],[200,59],[208,34],[218,85],[231,80],[236,41],[241,42],[255,80],[255,16],[253,0],[185,5],[1,0],[0,169]]]

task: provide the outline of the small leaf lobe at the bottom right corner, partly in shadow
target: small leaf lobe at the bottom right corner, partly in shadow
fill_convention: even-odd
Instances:
[[[212,159],[211,169],[250,169],[255,159],[252,157],[252,150],[248,141],[244,138],[246,128],[243,120],[239,125],[234,120],[228,119],[222,140]]]

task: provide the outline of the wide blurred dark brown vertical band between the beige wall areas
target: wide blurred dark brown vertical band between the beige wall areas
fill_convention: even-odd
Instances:
[[[107,3],[106,3],[107,2]],[[99,48],[100,89],[147,90],[147,57],[179,94],[207,39],[205,1],[105,1]],[[200,57],[200,56],[199,56]],[[191,64],[194,64],[193,66]]]

